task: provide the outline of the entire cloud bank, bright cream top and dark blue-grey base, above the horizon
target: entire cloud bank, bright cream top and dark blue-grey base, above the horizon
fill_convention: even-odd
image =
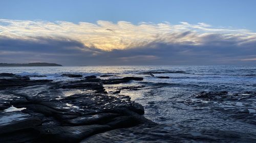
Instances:
[[[94,24],[0,19],[0,62],[6,63],[253,64],[255,45],[256,33],[203,22]]]

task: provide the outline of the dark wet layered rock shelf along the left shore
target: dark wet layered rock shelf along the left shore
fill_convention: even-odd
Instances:
[[[63,75],[80,77],[79,75]],[[29,76],[0,74],[0,142],[79,142],[94,135],[157,124],[143,117],[142,105],[129,96],[109,96],[103,84],[118,84],[141,77],[76,81],[31,80]],[[67,90],[86,93],[63,96]],[[97,142],[97,136],[95,140]],[[108,139],[105,139],[108,142]],[[109,142],[113,140],[110,138]],[[120,141],[120,140],[119,140]]]

